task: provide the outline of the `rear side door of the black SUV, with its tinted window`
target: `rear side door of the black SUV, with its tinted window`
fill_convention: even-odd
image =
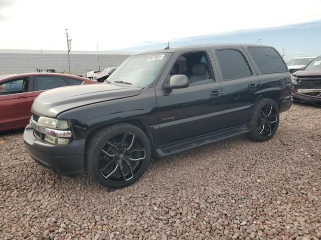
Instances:
[[[260,95],[260,80],[241,46],[212,47],[222,86],[224,127],[246,123]]]

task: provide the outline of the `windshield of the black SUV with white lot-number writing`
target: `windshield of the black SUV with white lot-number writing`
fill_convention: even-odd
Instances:
[[[171,53],[149,53],[130,56],[108,77],[108,81],[152,86],[170,55]]]

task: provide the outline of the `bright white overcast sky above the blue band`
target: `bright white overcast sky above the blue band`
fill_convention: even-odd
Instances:
[[[0,0],[0,48],[63,50],[65,28],[72,50],[113,50],[319,21],[321,0]]]

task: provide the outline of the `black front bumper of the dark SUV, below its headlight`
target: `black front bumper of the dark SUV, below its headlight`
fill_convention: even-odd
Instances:
[[[31,124],[24,132],[24,141],[36,162],[58,174],[81,176],[85,171],[85,139],[72,140],[66,146],[54,145],[34,135]]]

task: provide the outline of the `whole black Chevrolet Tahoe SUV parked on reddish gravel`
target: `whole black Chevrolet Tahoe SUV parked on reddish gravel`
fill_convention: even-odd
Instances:
[[[110,188],[135,182],[151,157],[246,133],[269,140],[292,104],[290,73],[270,46],[210,44],[130,56],[104,84],[41,93],[24,132],[31,156]]]

